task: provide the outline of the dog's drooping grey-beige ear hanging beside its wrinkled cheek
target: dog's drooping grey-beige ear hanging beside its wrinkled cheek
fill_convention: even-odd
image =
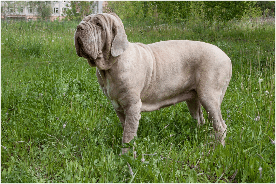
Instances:
[[[117,18],[116,22],[118,22],[114,23],[112,27],[115,36],[111,45],[111,55],[117,57],[127,50],[128,41],[122,20],[115,13],[112,13],[111,15],[115,16]]]

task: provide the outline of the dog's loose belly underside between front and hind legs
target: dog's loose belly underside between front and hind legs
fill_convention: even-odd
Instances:
[[[162,100],[162,101],[156,101],[153,103],[147,102],[147,101],[142,101],[142,108],[141,112],[150,112],[150,111],[155,111],[159,110],[164,107],[168,107],[171,105],[175,105],[179,102],[186,101],[188,99],[191,99],[196,95],[195,90],[191,90],[188,92],[183,92],[177,96]]]

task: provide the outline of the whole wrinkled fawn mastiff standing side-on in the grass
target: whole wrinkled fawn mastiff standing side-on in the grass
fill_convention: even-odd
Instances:
[[[217,46],[187,40],[130,43],[115,13],[85,17],[74,40],[77,55],[96,67],[100,87],[122,124],[122,143],[136,136],[141,112],[186,101],[199,126],[205,123],[201,106],[209,113],[215,139],[224,146],[227,126],[220,104],[232,64]]]

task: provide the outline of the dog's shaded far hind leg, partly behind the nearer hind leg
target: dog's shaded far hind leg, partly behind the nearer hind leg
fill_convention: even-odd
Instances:
[[[205,123],[205,119],[202,114],[201,103],[195,95],[192,99],[186,100],[187,107],[190,114],[197,120],[197,124],[201,127]]]

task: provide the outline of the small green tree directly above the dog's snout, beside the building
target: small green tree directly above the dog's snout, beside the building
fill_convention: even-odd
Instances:
[[[69,20],[82,20],[92,13],[94,1],[70,1],[71,9],[67,8],[65,14]],[[66,5],[68,6],[68,5]]]

